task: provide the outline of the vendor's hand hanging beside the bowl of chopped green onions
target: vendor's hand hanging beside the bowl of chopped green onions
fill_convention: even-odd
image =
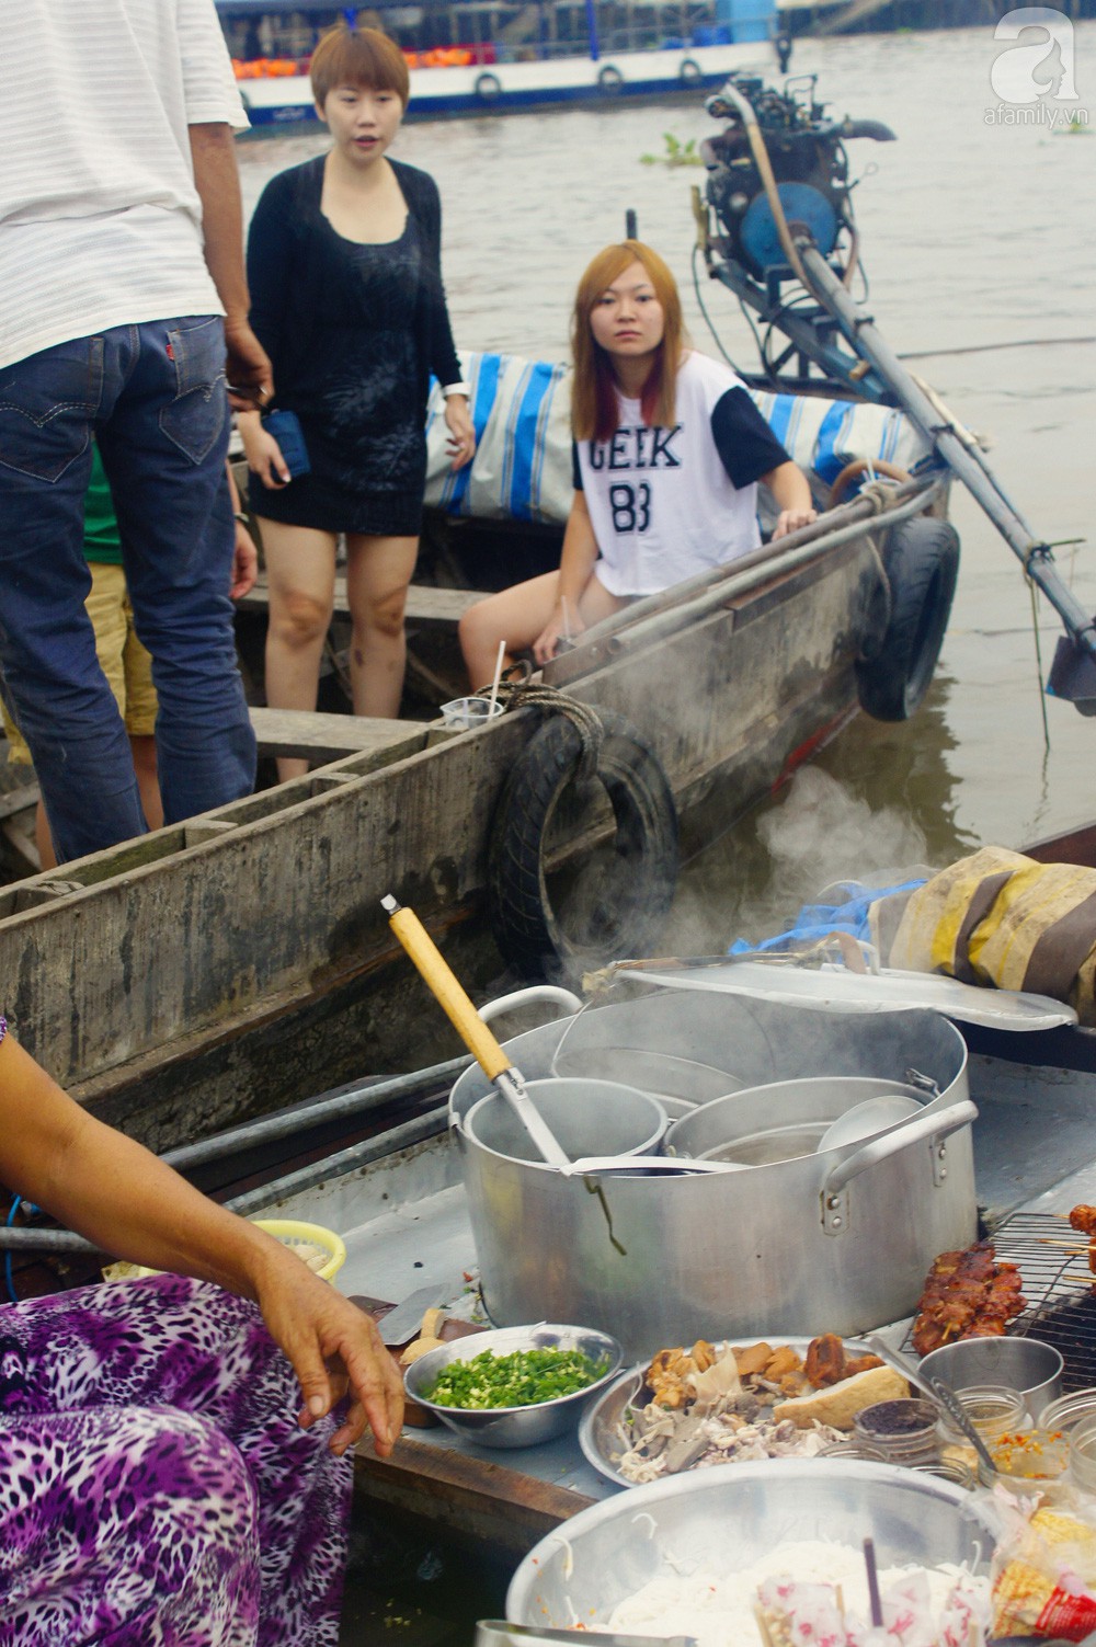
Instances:
[[[404,1388],[376,1323],[313,1275],[297,1253],[275,1247],[264,1260],[259,1308],[300,1380],[302,1430],[349,1392],[349,1411],[331,1436],[331,1451],[341,1454],[354,1446],[368,1423],[377,1454],[387,1458],[404,1423]]]

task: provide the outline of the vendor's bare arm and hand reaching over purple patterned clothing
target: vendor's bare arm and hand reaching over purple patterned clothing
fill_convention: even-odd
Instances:
[[[391,1453],[404,1400],[372,1321],[280,1242],[87,1115],[10,1034],[0,1041],[0,1179],[104,1252],[254,1299],[300,1380],[302,1425],[349,1387],[331,1449],[343,1453],[368,1421],[377,1451]]]

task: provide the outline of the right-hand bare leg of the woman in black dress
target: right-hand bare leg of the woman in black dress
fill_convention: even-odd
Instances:
[[[399,716],[407,664],[404,606],[417,557],[417,537],[346,535],[354,715]]]

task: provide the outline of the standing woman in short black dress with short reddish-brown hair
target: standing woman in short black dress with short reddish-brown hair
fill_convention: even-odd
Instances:
[[[333,147],[267,184],[247,242],[251,321],[311,464],[290,479],[259,413],[241,415],[270,580],[267,702],[316,705],[346,534],[354,713],[394,716],[432,372],[453,468],[476,443],[442,287],[438,191],[425,171],[387,158],[407,107],[404,56],[377,30],[335,28],[313,54],[311,87]],[[280,761],[282,779],[307,764]]]

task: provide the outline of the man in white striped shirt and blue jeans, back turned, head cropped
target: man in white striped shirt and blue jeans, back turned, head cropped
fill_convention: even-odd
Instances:
[[[153,657],[165,820],[254,784],[224,476],[229,399],[272,394],[244,125],[213,0],[0,0],[0,669],[59,861],[145,828],[84,611],[92,433]]]

